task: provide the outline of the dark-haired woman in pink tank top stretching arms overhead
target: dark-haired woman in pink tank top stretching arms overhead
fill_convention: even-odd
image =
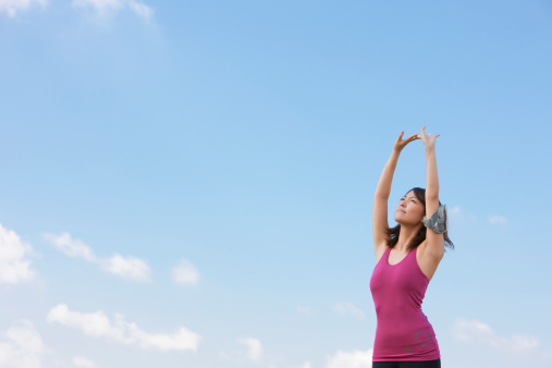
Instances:
[[[446,233],[446,207],[439,201],[436,138],[401,132],[383,168],[373,200],[373,245],[376,268],[370,291],[378,326],[372,368],[440,368],[441,354],[436,333],[421,311],[429,281],[444,255],[444,245],[454,248]],[[388,199],[396,161],[404,147],[421,139],[426,147],[426,189],[415,187],[395,207],[397,225],[388,224]]]

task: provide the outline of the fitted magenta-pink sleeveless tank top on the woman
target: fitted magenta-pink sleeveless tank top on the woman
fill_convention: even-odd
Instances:
[[[436,333],[421,311],[429,279],[416,261],[416,249],[396,265],[388,247],[370,278],[378,324],[372,361],[434,360],[441,358]]]

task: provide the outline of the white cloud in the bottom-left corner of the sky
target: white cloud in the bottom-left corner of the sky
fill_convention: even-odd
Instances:
[[[50,352],[29,321],[21,321],[4,333],[8,342],[0,342],[0,367],[40,368],[42,356]]]

